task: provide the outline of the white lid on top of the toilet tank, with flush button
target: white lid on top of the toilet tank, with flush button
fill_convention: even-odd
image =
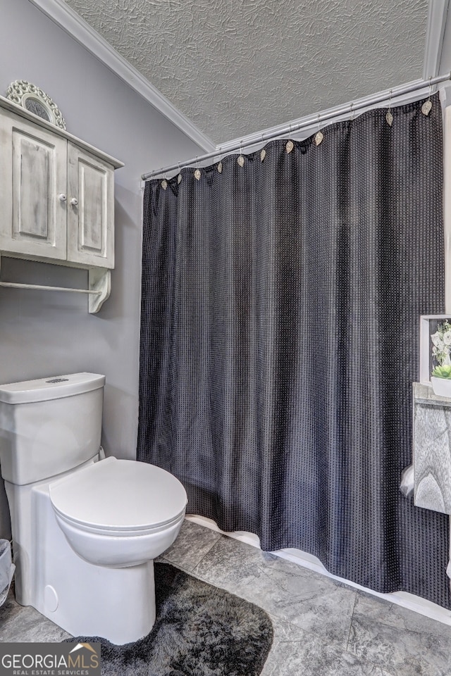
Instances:
[[[65,396],[91,392],[104,387],[105,376],[99,373],[70,373],[39,380],[25,380],[0,385],[0,401],[4,403],[32,403],[62,399]]]

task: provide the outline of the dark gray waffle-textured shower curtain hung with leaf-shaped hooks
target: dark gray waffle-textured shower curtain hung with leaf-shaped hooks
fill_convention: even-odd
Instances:
[[[447,518],[399,491],[443,312],[440,101],[146,184],[138,459],[266,550],[450,607]]]

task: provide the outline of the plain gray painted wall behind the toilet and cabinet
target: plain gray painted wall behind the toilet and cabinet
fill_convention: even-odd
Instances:
[[[134,458],[140,332],[140,175],[201,154],[155,108],[28,0],[0,0],[0,94],[27,80],[56,102],[70,133],[125,163],[116,171],[116,268],[98,315],[82,294],[0,289],[0,382],[92,371],[106,375],[102,444]],[[1,150],[0,150],[1,151]],[[1,217],[1,214],[0,214]],[[84,270],[1,259],[1,278],[87,284]],[[8,511],[0,486],[0,537]]]

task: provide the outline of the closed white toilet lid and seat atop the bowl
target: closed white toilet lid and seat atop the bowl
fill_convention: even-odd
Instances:
[[[106,458],[49,484],[54,511],[80,530],[117,536],[145,535],[183,518],[183,485],[155,465]]]

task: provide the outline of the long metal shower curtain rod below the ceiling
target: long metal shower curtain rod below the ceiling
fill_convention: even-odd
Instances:
[[[235,143],[235,145],[229,146],[225,151],[221,152],[221,146],[217,146],[216,150],[212,151],[211,153],[207,153],[206,155],[196,156],[190,160],[178,162],[176,164],[169,165],[168,167],[163,167],[161,169],[156,169],[153,171],[149,171],[146,174],[142,174],[141,179],[143,181],[146,181],[149,178],[161,174],[164,175],[166,174],[166,172],[173,171],[175,169],[178,169],[180,171],[180,169],[182,169],[183,167],[188,167],[190,165],[197,164],[198,162],[209,160],[213,157],[228,155],[230,153],[233,153],[233,151],[235,150],[242,151],[243,148],[247,148],[248,146],[255,146],[264,141],[270,141],[271,139],[283,137],[286,134],[292,134],[293,132],[297,132],[299,129],[303,129],[304,127],[311,127],[311,125],[315,124],[320,125],[321,122],[325,122],[326,120],[338,118],[340,115],[345,115],[346,113],[354,113],[355,111],[358,111],[360,108],[368,108],[369,106],[373,106],[374,104],[380,104],[381,101],[386,101],[387,99],[391,101],[391,99],[395,99],[397,96],[404,96],[404,94],[415,92],[416,89],[424,89],[424,87],[432,87],[433,84],[445,82],[445,80],[451,80],[451,73],[447,73],[447,75],[438,75],[437,77],[429,77],[428,80],[421,80],[420,82],[412,84],[404,84],[401,85],[400,87],[393,87],[393,89],[390,89],[387,92],[383,92],[382,94],[376,94],[375,96],[369,97],[368,99],[364,99],[363,101],[346,104],[345,106],[342,106],[342,108],[338,108],[330,112],[325,111],[323,113],[318,113],[317,115],[309,115],[307,118],[304,118],[299,123],[294,125],[288,125],[287,127],[284,127],[283,129],[278,130],[277,132],[268,132],[267,134],[261,134],[259,138],[249,139],[247,142],[237,142]]]

